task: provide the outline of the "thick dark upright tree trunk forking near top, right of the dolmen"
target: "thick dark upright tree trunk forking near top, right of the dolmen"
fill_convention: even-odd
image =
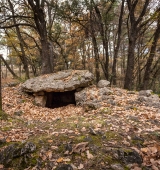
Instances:
[[[124,88],[128,90],[134,89],[134,66],[135,66],[135,44],[137,40],[137,35],[140,32],[140,30],[145,25],[144,23],[141,23],[147,7],[149,5],[149,0],[145,0],[143,8],[140,12],[139,17],[136,19],[135,17],[135,10],[136,6],[138,4],[138,0],[127,0],[127,6],[129,10],[129,19],[130,19],[130,30],[129,30],[129,47],[128,47],[128,60],[127,60],[127,70],[125,75],[125,83]],[[141,23],[141,24],[140,24]],[[146,23],[146,22],[145,22]],[[129,29],[129,28],[128,28]]]

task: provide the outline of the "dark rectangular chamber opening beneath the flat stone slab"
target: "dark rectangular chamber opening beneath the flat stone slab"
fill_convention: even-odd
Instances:
[[[66,92],[47,92],[46,96],[46,107],[48,108],[57,108],[69,104],[76,105],[75,90]]]

